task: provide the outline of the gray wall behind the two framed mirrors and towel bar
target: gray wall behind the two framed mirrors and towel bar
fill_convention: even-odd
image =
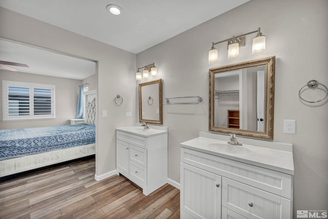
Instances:
[[[163,97],[203,97],[199,105],[163,106],[163,125],[169,126],[169,178],[180,181],[179,143],[208,130],[209,68],[275,55],[274,141],[294,145],[294,216],[296,210],[328,210],[328,98],[306,104],[298,97],[310,79],[328,86],[327,21],[326,0],[252,0],[138,53],[137,66],[155,62]],[[220,44],[219,62],[208,64],[213,41],[258,27],[267,36],[264,54],[252,55],[254,35],[249,35],[239,58],[229,60],[227,45]],[[283,133],[284,119],[296,120],[295,135]]]

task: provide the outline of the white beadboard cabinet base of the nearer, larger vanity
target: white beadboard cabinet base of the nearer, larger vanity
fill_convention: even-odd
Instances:
[[[196,145],[181,143],[181,218],[292,218],[292,174]]]

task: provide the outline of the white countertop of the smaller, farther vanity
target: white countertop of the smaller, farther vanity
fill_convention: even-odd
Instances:
[[[130,134],[135,134],[141,137],[152,137],[160,134],[167,133],[168,131],[162,127],[161,129],[156,129],[151,126],[150,129],[144,129],[144,127],[141,126],[128,126],[128,127],[121,127],[121,128],[116,128],[118,131],[130,133]]]

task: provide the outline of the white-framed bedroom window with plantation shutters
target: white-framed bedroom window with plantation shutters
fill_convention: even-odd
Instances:
[[[3,81],[3,120],[55,117],[55,86]]]

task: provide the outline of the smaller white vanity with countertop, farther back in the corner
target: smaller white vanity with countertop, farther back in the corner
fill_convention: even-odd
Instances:
[[[116,128],[116,170],[150,194],[167,183],[168,127]]]

